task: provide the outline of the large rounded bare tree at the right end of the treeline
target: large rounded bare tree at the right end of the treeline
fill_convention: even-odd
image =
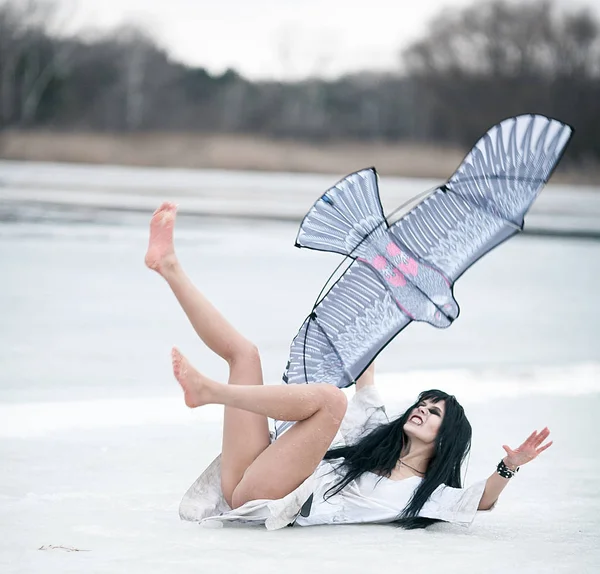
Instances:
[[[587,11],[477,2],[440,14],[402,58],[434,118],[429,137],[468,143],[502,117],[533,111],[585,130],[598,115],[600,34]],[[571,151],[594,147],[592,138],[580,130]]]

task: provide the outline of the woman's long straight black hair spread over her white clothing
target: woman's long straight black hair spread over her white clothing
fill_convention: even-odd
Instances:
[[[434,403],[444,401],[444,418],[435,439],[435,450],[425,477],[396,523],[403,528],[413,529],[425,528],[439,522],[419,517],[418,514],[438,486],[445,484],[455,488],[462,487],[460,470],[471,448],[471,425],[456,398],[436,389],[422,392],[417,402],[402,416],[377,427],[356,444],[327,451],[324,458],[342,458],[339,468],[346,471],[344,477],[328,491],[328,496],[337,494],[367,471],[389,477],[403,449],[410,444],[410,438],[404,432],[404,425],[412,411],[426,400]]]

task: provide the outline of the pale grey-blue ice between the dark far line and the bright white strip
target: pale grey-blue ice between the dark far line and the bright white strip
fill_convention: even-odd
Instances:
[[[177,344],[213,376],[166,284],[143,265],[147,216],[0,225],[0,398],[161,394]],[[277,382],[292,337],[340,261],[293,247],[297,226],[181,218],[180,257],[263,353]],[[413,324],[384,351],[384,372],[600,361],[600,242],[519,236],[457,282],[447,330]]]

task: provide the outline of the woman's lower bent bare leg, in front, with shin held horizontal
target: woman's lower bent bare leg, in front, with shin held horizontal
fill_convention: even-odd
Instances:
[[[233,492],[232,508],[281,498],[298,487],[323,459],[346,412],[346,396],[332,385],[222,385],[199,373],[177,349],[172,358],[189,407],[219,404],[298,421],[247,468]]]

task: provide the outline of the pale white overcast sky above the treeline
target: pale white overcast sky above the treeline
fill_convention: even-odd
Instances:
[[[63,29],[134,23],[175,58],[252,78],[397,68],[400,48],[440,10],[477,0],[61,0]],[[555,0],[595,7],[598,0]],[[68,26],[66,24],[68,23]]]

